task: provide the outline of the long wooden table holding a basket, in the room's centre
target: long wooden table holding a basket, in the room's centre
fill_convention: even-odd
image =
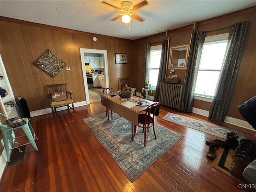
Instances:
[[[101,104],[106,106],[106,108],[116,112],[118,115],[122,116],[123,118],[127,119],[128,121],[130,121],[132,123],[132,141],[133,141],[133,132],[134,132],[134,126],[137,125],[138,126],[138,114],[140,114],[140,112],[146,110],[146,108],[148,106],[132,106],[132,107],[127,107],[124,106],[123,104],[125,104],[125,102],[131,102],[134,103],[134,100],[139,99],[141,101],[148,101],[151,104],[155,103],[153,101],[150,100],[146,100],[143,98],[139,98],[136,96],[132,96],[131,99],[128,100],[121,100],[121,98],[116,95],[114,97],[106,94],[102,94],[100,95],[101,98]],[[129,103],[128,103],[129,104]],[[109,120],[109,114],[108,114],[108,120]]]

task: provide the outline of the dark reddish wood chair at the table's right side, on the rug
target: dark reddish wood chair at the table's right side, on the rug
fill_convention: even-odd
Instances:
[[[160,104],[158,102],[151,104],[146,108],[145,114],[139,114],[139,127],[143,128],[144,132],[144,147],[146,147],[146,130],[149,131],[150,127],[153,127],[155,139],[156,139],[156,132],[155,132],[155,126],[154,126],[154,120],[155,116],[159,115],[159,109],[160,109]],[[142,126],[141,126],[142,124]],[[135,137],[136,134],[136,126],[134,126],[134,135],[133,138]]]

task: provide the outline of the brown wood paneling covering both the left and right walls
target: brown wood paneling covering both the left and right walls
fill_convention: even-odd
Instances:
[[[238,105],[256,95],[256,7],[248,8],[198,23],[197,31],[214,30],[231,26],[236,22],[249,20],[246,45],[236,81],[236,86],[228,116],[243,119],[238,112]],[[169,46],[189,44],[193,25],[167,32],[170,37]],[[221,34],[228,30],[208,33]],[[166,39],[165,32],[137,40],[125,40],[98,34],[78,32],[42,24],[34,24],[20,20],[1,17],[1,56],[6,67],[14,96],[26,98],[30,111],[48,108],[46,98],[47,84],[66,82],[68,89],[74,93],[74,101],[84,101],[84,84],[80,59],[80,48],[101,49],[108,51],[108,72],[110,86],[118,90],[118,78],[128,77],[137,91],[142,89],[142,66],[144,60],[144,44],[160,42]],[[92,37],[98,40],[94,42]],[[63,69],[52,78],[32,63],[46,50],[50,49],[64,60],[71,71]],[[127,53],[128,64],[115,64],[114,53]],[[169,61],[169,59],[168,59]],[[186,70],[176,69],[175,73],[184,83]],[[167,76],[169,72],[167,71]],[[209,104],[195,101],[196,106],[204,110]]]

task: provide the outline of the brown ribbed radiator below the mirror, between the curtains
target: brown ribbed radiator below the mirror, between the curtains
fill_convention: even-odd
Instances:
[[[180,109],[183,84],[160,83],[159,103],[174,109]]]

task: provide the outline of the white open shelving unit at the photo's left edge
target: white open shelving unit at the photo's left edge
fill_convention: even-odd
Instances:
[[[0,79],[0,84],[1,84],[1,88],[5,89],[7,92],[7,95],[4,97],[0,97],[0,103],[1,103],[1,113],[4,114],[5,116],[7,116],[8,118],[14,118],[18,116],[17,110],[16,110],[16,102],[15,102],[15,98],[14,98],[14,94],[12,92],[12,87],[10,85],[8,76],[6,74],[6,70],[4,67],[4,63],[2,61],[2,57],[0,56],[0,72],[1,72],[1,79]],[[3,77],[2,77],[3,76]],[[8,106],[8,108],[4,107],[5,103],[9,103],[12,106],[10,107],[10,105]]]

